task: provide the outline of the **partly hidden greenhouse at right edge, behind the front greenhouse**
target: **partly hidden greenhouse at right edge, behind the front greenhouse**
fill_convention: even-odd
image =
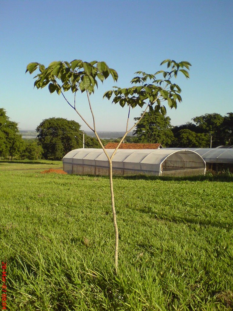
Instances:
[[[182,148],[164,148],[167,150],[182,150]],[[233,149],[232,148],[189,148],[198,153],[206,162],[207,169],[216,172],[229,170],[233,172]]]

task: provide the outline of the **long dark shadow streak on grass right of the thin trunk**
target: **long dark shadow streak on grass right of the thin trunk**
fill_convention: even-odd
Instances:
[[[200,225],[200,226],[212,226],[212,227],[216,227],[216,228],[220,228],[220,229],[225,229],[226,231],[230,231],[233,229],[233,224],[232,223],[220,223],[217,221],[210,221],[210,220],[199,220],[197,218],[195,218],[194,216],[174,216],[174,215],[169,215],[166,213],[160,213],[160,212],[153,212],[150,211],[146,208],[144,209],[132,209],[132,210],[136,210],[139,211],[143,214],[148,214],[151,216],[151,218],[153,219],[158,219],[158,220],[163,220],[163,221],[169,221],[169,222],[174,222],[177,224],[183,223],[183,224],[194,224],[194,225]]]

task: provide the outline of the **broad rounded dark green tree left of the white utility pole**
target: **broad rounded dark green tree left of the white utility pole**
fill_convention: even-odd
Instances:
[[[36,128],[38,141],[43,148],[43,158],[61,160],[72,149],[82,148],[80,124],[64,118],[43,120]]]

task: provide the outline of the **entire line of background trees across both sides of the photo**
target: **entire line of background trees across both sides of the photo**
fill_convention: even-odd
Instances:
[[[135,118],[137,121],[140,117]],[[161,143],[163,147],[212,148],[233,145],[233,113],[204,114],[179,126],[155,111],[148,111],[125,142]],[[0,108],[0,156],[2,159],[61,160],[67,152],[83,147],[80,124],[64,118],[44,119],[36,128],[36,139],[23,139],[16,122]],[[119,139],[118,139],[119,140]],[[84,133],[85,148],[100,148],[95,137]],[[102,140],[107,142],[117,139]]]

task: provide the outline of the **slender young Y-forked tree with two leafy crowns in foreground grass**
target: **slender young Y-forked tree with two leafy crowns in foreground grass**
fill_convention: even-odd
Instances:
[[[181,102],[180,87],[172,83],[171,79],[177,77],[177,74],[181,72],[186,78],[189,78],[189,70],[191,64],[183,61],[176,63],[174,60],[166,59],[161,65],[167,64],[167,70],[157,71],[155,74],[147,74],[142,71],[136,72],[137,76],[131,80],[134,86],[128,88],[114,87],[113,90],[105,92],[104,98],[110,100],[113,95],[112,102],[119,103],[121,107],[128,106],[128,118],[126,121],[126,132],[121,138],[117,148],[113,152],[112,156],[109,156],[105,150],[95,126],[94,113],[91,106],[90,95],[94,93],[95,87],[98,87],[97,79],[103,82],[109,76],[112,76],[113,81],[117,81],[118,74],[116,70],[109,68],[105,62],[92,61],[90,63],[83,62],[80,59],[75,59],[69,62],[55,61],[45,67],[39,63],[30,63],[27,65],[26,72],[32,74],[35,70],[39,69],[39,73],[35,76],[34,86],[39,89],[48,85],[50,93],[57,92],[62,94],[67,104],[75,110],[85,124],[94,132],[98,139],[99,144],[103,148],[103,151],[109,161],[109,175],[110,175],[110,190],[111,190],[111,202],[112,202],[112,215],[113,224],[115,229],[115,272],[118,269],[118,226],[116,218],[116,209],[114,201],[114,191],[112,182],[112,159],[117,152],[121,142],[124,140],[126,135],[141,121],[147,109],[150,111],[161,112],[163,115],[166,114],[166,108],[163,105],[164,101],[167,101],[170,108],[177,108],[177,102]],[[160,77],[161,76],[161,77]],[[74,93],[74,102],[71,104],[64,95],[64,92],[71,90]],[[90,125],[85,118],[77,110],[75,104],[75,95],[77,91],[81,93],[85,92],[88,100],[90,113],[93,119],[93,125]],[[144,109],[139,120],[131,128],[128,128],[130,109],[139,106]]]

